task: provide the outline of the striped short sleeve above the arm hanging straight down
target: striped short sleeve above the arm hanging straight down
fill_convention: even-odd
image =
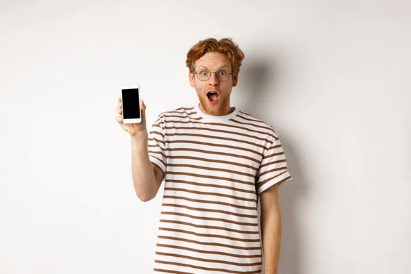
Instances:
[[[260,163],[260,168],[258,169],[256,179],[257,195],[260,195],[261,192],[270,186],[274,186],[275,184],[279,186],[292,179],[290,173],[288,173],[286,155],[284,154],[279,137],[271,137],[271,141],[273,141],[273,143],[269,149],[265,151]]]

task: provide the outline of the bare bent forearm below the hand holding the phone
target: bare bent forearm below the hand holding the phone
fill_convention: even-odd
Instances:
[[[132,175],[134,190],[141,201],[157,195],[164,173],[149,160],[147,132],[132,137]]]

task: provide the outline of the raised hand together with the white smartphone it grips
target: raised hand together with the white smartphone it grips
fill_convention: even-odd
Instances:
[[[116,121],[130,136],[147,134],[145,109],[144,101],[140,100],[140,86],[138,84],[122,85],[116,107],[116,112],[121,116],[116,116]]]

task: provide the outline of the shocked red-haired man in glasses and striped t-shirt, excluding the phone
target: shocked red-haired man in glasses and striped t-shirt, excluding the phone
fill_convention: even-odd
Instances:
[[[144,102],[141,124],[116,116],[132,136],[136,195],[153,199],[165,179],[155,272],[261,273],[264,250],[277,273],[278,186],[292,177],[273,127],[230,106],[243,58],[229,38],[201,40],[186,60],[200,103],[162,112],[149,134]]]

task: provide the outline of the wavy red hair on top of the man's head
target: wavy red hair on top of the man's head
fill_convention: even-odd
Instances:
[[[240,71],[244,53],[238,48],[236,42],[234,42],[232,38],[223,38],[221,40],[208,38],[200,40],[188,51],[186,66],[190,69],[190,73],[195,72],[195,61],[199,60],[208,52],[222,53],[227,57],[229,62],[231,62],[232,73],[238,73]]]

